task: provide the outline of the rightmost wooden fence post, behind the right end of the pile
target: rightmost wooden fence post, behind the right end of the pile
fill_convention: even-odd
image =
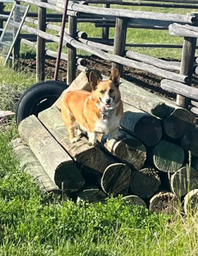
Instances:
[[[191,12],[191,13],[188,13],[188,16],[198,17],[198,13]],[[191,86],[192,84],[196,45],[197,45],[197,38],[184,37],[180,74],[188,75],[191,78],[191,81],[188,83],[189,86]],[[178,106],[183,107],[185,109],[188,109],[189,107],[189,99],[179,94],[177,95],[176,103]]]

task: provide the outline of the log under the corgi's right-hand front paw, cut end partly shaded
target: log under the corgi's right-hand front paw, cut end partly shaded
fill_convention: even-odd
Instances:
[[[108,140],[106,135],[99,134],[97,138],[101,147],[131,168],[141,169],[147,159],[144,144],[123,130],[120,132],[125,134],[125,138],[119,141],[115,139]]]

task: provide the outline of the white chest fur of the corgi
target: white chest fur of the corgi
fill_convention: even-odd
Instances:
[[[120,125],[120,118],[116,116],[116,111],[112,113],[105,113],[99,118],[95,125],[95,131],[103,134],[108,134],[118,128]]]

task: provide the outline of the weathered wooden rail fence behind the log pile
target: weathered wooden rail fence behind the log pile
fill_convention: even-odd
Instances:
[[[180,0],[177,0],[180,1]],[[22,38],[21,43],[27,44],[30,47],[33,47],[37,50],[37,79],[45,79],[45,56],[51,56],[56,58],[57,53],[46,49],[46,42],[59,42],[58,35],[51,35],[46,33],[46,29],[51,29],[60,32],[60,27],[57,25],[50,24],[47,19],[54,21],[58,18],[58,14],[53,17],[47,15],[46,9],[49,8],[60,14],[63,13],[63,0],[47,0],[47,1],[38,1],[38,0],[21,0],[21,2],[34,4],[39,7],[38,19],[27,17],[26,21],[32,24],[36,24],[38,28],[32,28],[26,24],[23,25],[22,30],[29,33],[29,38]],[[181,1],[180,1],[181,2]],[[187,0],[186,0],[187,2]],[[188,1],[189,2],[189,1]],[[197,43],[197,34],[198,25],[197,14],[190,13],[189,15],[179,15],[179,14],[169,14],[169,13],[155,13],[155,12],[146,12],[146,11],[133,11],[126,9],[115,9],[115,8],[102,8],[98,6],[88,6],[88,3],[117,3],[123,4],[121,0],[87,0],[80,2],[69,2],[68,4],[68,29],[66,29],[64,34],[63,45],[68,47],[68,54],[62,54],[61,59],[69,62],[67,65],[67,83],[71,84],[76,76],[76,68],[82,69],[82,65],[85,64],[85,61],[77,58],[76,49],[84,50],[88,53],[94,54],[103,60],[111,61],[112,68],[117,67],[122,75],[123,65],[128,65],[133,68],[138,68],[141,70],[148,71],[155,75],[161,76],[166,80],[162,80],[162,88],[166,88],[165,85],[174,83],[175,86],[178,83],[186,84],[189,90],[189,85],[191,85],[193,71],[196,71],[197,64],[194,64],[195,59],[195,50]],[[124,5],[124,4],[123,4]],[[109,6],[109,5],[108,5]],[[108,7],[105,6],[105,7]],[[82,16],[84,15],[84,16]],[[96,42],[89,40],[87,34],[82,31],[77,31],[77,22],[78,19],[94,19],[97,20],[115,20],[115,36],[113,46],[105,44],[105,41]],[[147,55],[134,53],[131,51],[126,51],[126,32],[129,24],[134,26],[144,26],[144,27],[160,27],[169,28],[171,35],[182,36],[184,37],[183,44],[183,56],[181,66],[176,62],[167,62],[152,58]],[[12,24],[14,27],[17,26],[17,23]],[[107,31],[103,31],[103,38],[106,38],[108,41]],[[37,37],[37,44],[33,41]],[[31,40],[32,38],[32,40]],[[17,47],[19,49],[19,47]],[[16,52],[16,51],[15,51]],[[113,54],[109,54],[112,52]],[[16,56],[19,56],[19,53],[16,53]],[[128,57],[128,58],[125,58]],[[13,56],[15,63],[18,62],[15,56]],[[170,70],[180,70],[180,73],[176,73]],[[198,71],[198,70],[197,70]],[[196,72],[197,72],[196,71]],[[174,81],[174,82],[172,82]],[[167,85],[167,87],[168,87]],[[168,87],[168,90],[170,90]],[[173,88],[173,87],[171,87]],[[183,88],[181,86],[181,88]],[[185,87],[186,88],[186,87]],[[173,91],[173,89],[171,89]],[[187,94],[181,94],[177,91],[177,104],[181,107],[188,108],[189,102],[186,98]],[[198,100],[192,95],[189,95],[189,98]]]

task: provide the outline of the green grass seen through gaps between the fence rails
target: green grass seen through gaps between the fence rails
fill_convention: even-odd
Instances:
[[[125,8],[131,10],[140,11],[155,11],[162,13],[176,13],[176,14],[187,14],[188,12],[197,12],[198,9],[185,9],[185,8],[162,8],[162,7],[147,7],[147,6],[119,6],[111,5],[113,8]],[[8,8],[8,7],[7,7]],[[30,11],[36,12],[37,7],[31,6]],[[48,10],[48,12],[53,12]],[[57,24],[57,23],[56,23]],[[60,25],[60,24],[59,24]],[[32,25],[31,25],[32,26]],[[96,28],[94,24],[90,23],[79,23],[78,29],[88,33],[89,37],[101,38],[102,28]],[[56,34],[54,31],[48,30],[49,33]],[[115,29],[110,28],[109,37],[114,38]],[[150,29],[133,29],[128,28],[127,30],[127,43],[137,44],[180,44],[182,45],[183,39],[175,36],[170,36],[168,31],[164,30],[150,30]],[[58,45],[56,43],[48,43],[47,48],[50,50],[56,50]],[[153,49],[153,48],[129,48],[130,50],[137,51],[140,53],[148,54],[157,58],[173,58],[181,59],[181,49]],[[22,46],[21,52],[34,52],[33,49],[27,46]],[[63,48],[63,52],[67,52],[66,47]],[[82,51],[78,51],[79,54],[85,54]]]

